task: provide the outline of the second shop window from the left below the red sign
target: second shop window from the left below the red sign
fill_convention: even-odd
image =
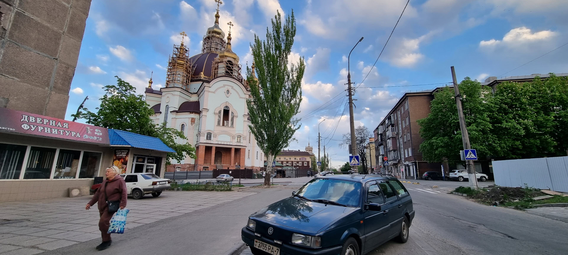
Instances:
[[[49,179],[56,149],[32,146],[24,179]]]

